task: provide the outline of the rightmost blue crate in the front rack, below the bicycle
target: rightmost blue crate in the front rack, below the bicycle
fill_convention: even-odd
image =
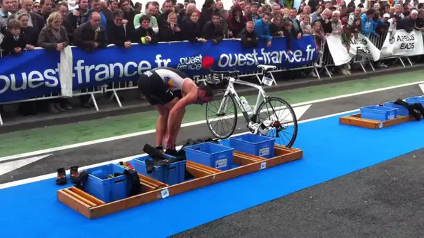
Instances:
[[[229,138],[229,147],[234,148],[234,150],[266,159],[274,157],[274,144],[274,138],[256,134],[244,134]]]

